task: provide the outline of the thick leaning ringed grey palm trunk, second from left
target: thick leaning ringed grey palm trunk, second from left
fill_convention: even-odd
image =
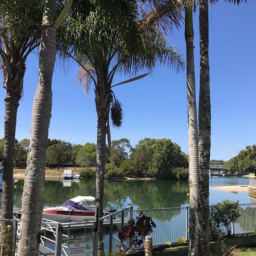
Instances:
[[[48,10],[50,22],[42,27],[38,84],[32,108],[30,148],[22,198],[19,256],[37,256],[40,243],[46,145],[52,111],[52,75],[56,58],[56,26],[52,25],[56,18],[56,1],[45,1],[45,10]]]

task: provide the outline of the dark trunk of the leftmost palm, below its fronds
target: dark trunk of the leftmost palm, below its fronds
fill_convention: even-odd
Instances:
[[[6,88],[5,116],[4,116],[4,174],[2,186],[2,218],[13,218],[13,164],[14,142],[16,132],[16,117],[23,88],[25,65],[19,62],[11,63],[4,70],[4,88]],[[3,224],[3,223],[2,223]],[[8,225],[10,223],[4,223]],[[12,224],[10,224],[12,225]],[[12,233],[12,232],[11,232]],[[2,236],[4,233],[2,231]],[[5,254],[7,244],[1,246],[1,255]],[[12,248],[12,239],[8,245]]]

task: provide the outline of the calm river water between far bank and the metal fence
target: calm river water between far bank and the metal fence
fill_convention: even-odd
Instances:
[[[214,186],[248,185],[249,178],[210,177],[210,204],[224,199],[242,203],[254,203],[248,192],[228,192],[212,189]],[[14,188],[14,205],[21,207],[24,181],[19,180]],[[105,209],[121,209],[130,204],[134,209],[169,208],[188,206],[188,181],[180,180],[106,180],[104,187]],[[81,179],[80,182],[47,180],[44,202],[62,204],[76,196],[95,196],[95,180]]]

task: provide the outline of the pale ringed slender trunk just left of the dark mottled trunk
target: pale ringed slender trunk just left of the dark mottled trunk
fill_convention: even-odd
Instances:
[[[189,252],[197,256],[197,204],[198,204],[198,124],[196,109],[196,81],[194,68],[192,6],[186,6],[185,39],[187,55],[187,96],[188,96],[188,155],[189,155],[189,186],[190,186],[190,218],[189,218]]]

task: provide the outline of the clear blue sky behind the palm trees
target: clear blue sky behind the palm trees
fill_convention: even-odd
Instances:
[[[246,145],[256,143],[255,82],[256,2],[239,7],[219,2],[210,9],[210,80],[212,104],[211,159],[228,160]],[[194,45],[197,96],[199,90],[198,14],[194,17]],[[184,29],[171,36],[171,42],[186,56]],[[96,142],[94,92],[85,98],[78,87],[74,64],[63,71],[56,64],[52,118],[49,138],[74,144]],[[24,96],[18,108],[16,138],[30,138],[32,102],[38,78],[38,58],[27,61]],[[114,82],[120,82],[116,77]],[[186,72],[175,74],[157,67],[152,76],[114,88],[124,105],[124,124],[112,128],[112,139],[128,138],[133,146],[145,137],[170,138],[188,153]],[[0,132],[3,136],[4,97],[0,88]]]

